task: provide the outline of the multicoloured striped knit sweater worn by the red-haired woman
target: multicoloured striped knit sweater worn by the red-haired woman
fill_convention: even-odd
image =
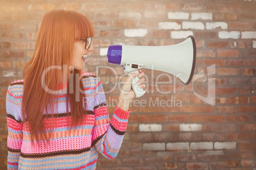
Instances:
[[[6,94],[8,169],[96,169],[97,152],[109,159],[117,156],[130,111],[116,107],[110,120],[99,78],[83,72],[82,81],[86,100],[90,101],[83,124],[68,133],[71,117],[66,114],[66,89],[62,89],[58,111],[53,113],[57,117],[50,145],[31,145],[29,130],[21,115],[24,81],[10,84]]]

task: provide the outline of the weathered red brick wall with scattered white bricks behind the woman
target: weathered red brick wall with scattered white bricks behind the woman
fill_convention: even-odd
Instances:
[[[115,75],[122,77],[123,70],[106,63],[108,46],[165,46],[188,35],[197,44],[198,79],[188,86],[171,74],[145,70],[147,93],[131,104],[120,153],[114,160],[99,156],[97,169],[255,170],[255,8],[255,0],[1,1],[0,169],[6,168],[8,84],[22,79],[43,14],[68,9],[95,27],[95,51],[85,70],[101,78],[110,115],[118,98],[115,82],[121,83]]]

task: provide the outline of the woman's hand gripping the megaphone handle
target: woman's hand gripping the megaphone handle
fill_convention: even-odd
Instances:
[[[143,77],[145,74],[144,72],[139,69],[139,72],[130,74],[127,79],[125,80],[124,85],[122,86],[120,96],[118,98],[118,107],[121,108],[124,111],[129,110],[129,105],[136,95],[134,91],[132,90],[132,79],[136,76],[139,77],[138,86],[139,88],[146,88],[146,84],[143,84],[143,81],[145,81],[145,77]]]

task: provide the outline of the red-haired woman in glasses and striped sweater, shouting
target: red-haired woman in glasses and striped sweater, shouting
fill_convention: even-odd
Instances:
[[[110,120],[99,78],[82,71],[92,37],[92,24],[80,13],[43,16],[24,79],[12,82],[6,95],[8,169],[96,169],[97,151],[117,156],[138,74],[127,77]]]

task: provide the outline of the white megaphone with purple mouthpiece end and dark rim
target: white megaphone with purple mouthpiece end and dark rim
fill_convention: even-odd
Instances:
[[[109,46],[106,56],[108,63],[122,65],[124,72],[131,74],[139,69],[154,69],[176,75],[183,84],[192,80],[196,65],[196,41],[193,36],[171,46]],[[134,77],[132,89],[136,97],[146,93],[136,85]]]

